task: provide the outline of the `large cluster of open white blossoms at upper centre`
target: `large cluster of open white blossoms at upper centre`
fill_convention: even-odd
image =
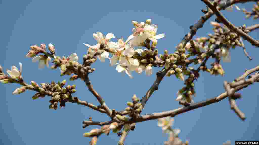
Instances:
[[[142,46],[143,43],[146,43],[146,39],[157,43],[157,39],[163,38],[165,35],[156,35],[157,25],[151,24],[151,19],[141,23],[132,21],[132,23],[135,27],[132,29],[133,34],[130,35],[125,42],[123,38],[118,39],[118,42],[110,41],[112,38],[115,38],[115,35],[112,33],[108,33],[105,37],[101,32],[94,33],[93,38],[97,41],[97,44],[91,46],[84,43],[85,46],[89,47],[87,54],[94,54],[99,50],[104,50],[103,53],[95,57],[101,62],[105,62],[105,59],[109,59],[110,66],[117,65],[116,70],[119,73],[125,72],[130,78],[133,78],[131,71],[136,71],[140,74],[145,70],[146,75],[151,75],[152,64],[145,63],[145,60],[133,57],[134,54],[141,56],[141,54],[147,50],[134,50],[134,47]],[[109,57],[110,53],[112,54],[111,58]]]

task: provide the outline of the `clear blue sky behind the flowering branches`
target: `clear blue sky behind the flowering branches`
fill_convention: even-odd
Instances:
[[[251,10],[252,2],[238,6]],[[201,1],[7,1],[0,4],[0,36],[1,51],[0,65],[10,69],[12,65],[23,63],[23,78],[29,83],[31,80],[40,83],[50,83],[67,80],[67,84],[76,84],[77,96],[81,100],[98,105],[96,98],[88,91],[81,80],[69,81],[69,76],[60,77],[59,69],[39,70],[38,63],[26,58],[31,45],[52,43],[55,45],[58,56],[68,56],[77,53],[79,62],[86,54],[87,47],[83,43],[95,45],[92,34],[97,31],[104,35],[115,34],[117,38],[126,39],[132,31],[132,20],[145,21],[152,19],[158,25],[158,34],[165,33],[166,37],[158,41],[159,54],[167,49],[169,53],[175,51],[184,35],[203,15],[200,11],[205,8]],[[223,11],[225,17],[236,26],[247,26],[258,23],[258,20],[246,19],[241,11]],[[212,32],[208,20],[196,37],[207,36]],[[250,33],[258,39],[258,30]],[[226,74],[224,77],[211,76],[202,72],[196,84],[197,96],[194,101],[201,101],[224,92],[223,81],[232,81],[242,75],[245,69],[258,65],[258,48],[244,42],[247,52],[254,59],[249,61],[240,47],[231,50],[231,63],[222,63]],[[5,54],[4,54],[5,52]],[[211,61],[207,62],[210,66]],[[96,71],[90,74],[93,86],[103,96],[111,109],[124,110],[126,102],[133,94],[139,98],[145,95],[155,80],[155,72],[161,68],[154,68],[149,77],[133,73],[130,79],[105,63],[97,61],[92,65]],[[95,121],[106,121],[109,117],[87,107],[66,103],[65,108],[56,111],[48,109],[50,99],[32,100],[33,91],[26,91],[20,95],[12,95],[19,87],[18,84],[0,84],[2,100],[0,101],[2,144],[88,144],[90,138],[82,136],[89,132],[90,126],[82,128],[82,121],[90,116]],[[154,92],[142,113],[153,113],[181,107],[176,99],[176,92],[184,86],[183,81],[174,76],[165,77],[159,90]],[[190,144],[222,144],[226,140],[259,140],[258,112],[258,84],[250,85],[241,90],[243,98],[237,100],[239,108],[246,114],[247,119],[242,122],[230,110],[228,100],[192,110],[175,117],[173,127],[181,129],[179,137]],[[167,140],[157,121],[151,120],[136,124],[133,132],[126,138],[126,144],[163,144]],[[98,144],[116,144],[119,141],[117,134],[102,135]]]

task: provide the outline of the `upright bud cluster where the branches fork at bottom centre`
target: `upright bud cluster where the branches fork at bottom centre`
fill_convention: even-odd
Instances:
[[[127,105],[128,107],[125,110],[131,112],[130,117],[134,116],[134,114],[140,114],[143,109],[140,99],[135,94],[132,97],[132,102],[127,102]]]

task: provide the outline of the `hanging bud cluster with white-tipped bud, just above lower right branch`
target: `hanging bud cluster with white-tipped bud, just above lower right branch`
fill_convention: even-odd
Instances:
[[[181,88],[176,93],[176,101],[180,101],[181,104],[185,103],[193,103],[193,95],[195,96],[195,89],[194,89],[194,83],[188,84],[186,87]]]

